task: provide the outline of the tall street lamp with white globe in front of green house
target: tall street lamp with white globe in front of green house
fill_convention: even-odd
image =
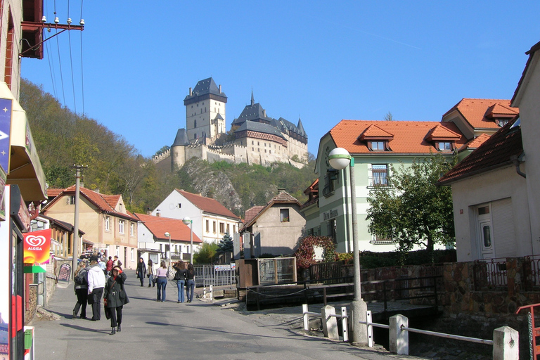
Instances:
[[[328,154],[330,166],[336,170],[346,169],[349,165],[351,180],[351,217],[352,217],[352,251],[354,262],[354,299],[352,300],[352,342],[368,345],[368,329],[359,321],[366,321],[368,306],[361,297],[360,254],[358,248],[358,221],[356,219],[356,183],[354,180],[354,158],[344,148],[335,148]]]

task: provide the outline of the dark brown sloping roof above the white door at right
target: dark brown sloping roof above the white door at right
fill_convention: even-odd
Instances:
[[[451,184],[454,181],[465,179],[482,172],[511,165],[513,162],[510,158],[513,155],[519,156],[523,152],[521,127],[518,124],[512,127],[518,120],[519,117],[516,117],[501,127],[499,131],[491,135],[473,153],[470,153],[467,158],[463,159],[458,165],[444,174],[437,184]]]

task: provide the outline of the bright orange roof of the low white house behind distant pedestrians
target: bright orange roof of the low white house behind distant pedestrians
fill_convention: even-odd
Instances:
[[[169,240],[165,233],[171,234],[171,241],[191,241],[191,231],[189,226],[179,219],[168,217],[155,217],[153,215],[135,214],[143,224],[153,233],[158,240]],[[203,243],[195,233],[193,233],[193,243]]]

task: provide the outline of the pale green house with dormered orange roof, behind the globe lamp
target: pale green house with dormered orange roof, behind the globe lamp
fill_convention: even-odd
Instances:
[[[342,120],[319,142],[315,173],[319,182],[307,191],[317,200],[302,205],[307,233],[331,236],[338,252],[352,251],[352,218],[349,168],[335,170],[328,162],[334,148],[345,148],[354,158],[356,212],[360,250],[395,250],[392,239],[380,239],[368,232],[370,191],[392,186],[391,165],[412,164],[417,158],[435,153],[451,157],[468,139],[454,122]]]

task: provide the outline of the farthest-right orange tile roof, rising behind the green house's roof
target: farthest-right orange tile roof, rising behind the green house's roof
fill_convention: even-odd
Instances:
[[[453,108],[442,115],[443,121],[446,115],[458,110],[471,127],[475,129],[499,129],[499,125],[493,117],[513,118],[519,114],[518,108],[510,106],[510,100],[493,98],[463,98]]]

